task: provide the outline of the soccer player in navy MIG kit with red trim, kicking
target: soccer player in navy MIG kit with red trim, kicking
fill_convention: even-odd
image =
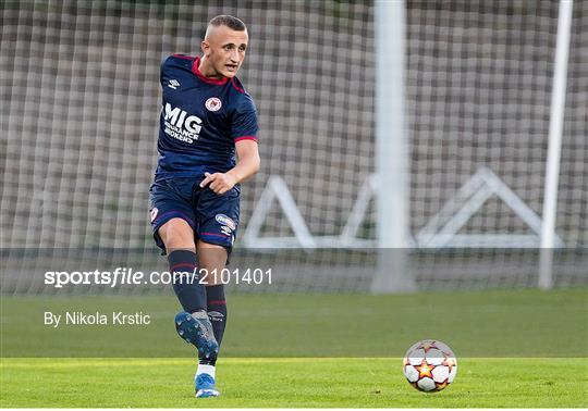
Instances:
[[[215,365],[226,322],[220,273],[237,231],[240,183],[259,170],[256,108],[235,77],[247,43],[245,24],[219,15],[200,57],[174,54],[161,65],[151,226],[184,309],[177,334],[198,351],[196,397],[219,396]]]

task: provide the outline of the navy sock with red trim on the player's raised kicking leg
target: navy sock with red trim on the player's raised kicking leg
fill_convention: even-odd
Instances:
[[[168,254],[168,261],[173,277],[173,290],[184,311],[191,314],[206,311],[206,287],[199,284],[196,253],[189,250],[175,250]]]

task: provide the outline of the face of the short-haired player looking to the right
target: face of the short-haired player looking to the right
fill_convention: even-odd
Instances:
[[[226,26],[211,27],[207,38],[203,41],[209,68],[215,77],[234,77],[245,60],[247,30],[235,32]]]

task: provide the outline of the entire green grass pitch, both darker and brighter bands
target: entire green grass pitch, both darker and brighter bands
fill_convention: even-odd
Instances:
[[[588,407],[586,289],[229,296],[219,399],[193,398],[194,349],[164,296],[2,297],[0,407]],[[42,325],[45,311],[143,311],[149,326]],[[454,384],[411,387],[419,339],[456,352]]]

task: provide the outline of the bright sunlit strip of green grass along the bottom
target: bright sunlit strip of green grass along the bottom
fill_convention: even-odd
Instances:
[[[455,382],[419,393],[399,359],[223,359],[220,398],[193,398],[194,361],[3,359],[0,407],[588,407],[586,359],[461,359]]]

